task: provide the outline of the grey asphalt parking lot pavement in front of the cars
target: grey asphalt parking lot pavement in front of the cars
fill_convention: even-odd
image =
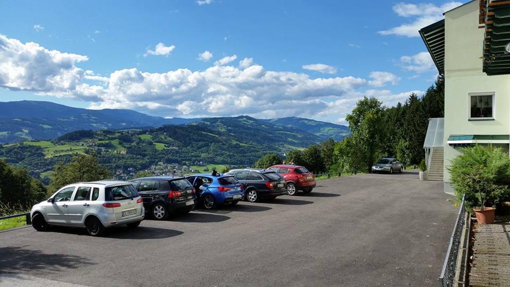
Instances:
[[[99,238],[69,228],[3,232],[0,285],[437,284],[457,209],[442,182],[404,173],[317,185],[309,195],[146,220]]]

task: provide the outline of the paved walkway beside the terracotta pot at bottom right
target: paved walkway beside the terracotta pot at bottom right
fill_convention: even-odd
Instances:
[[[470,286],[510,286],[510,223],[475,227]]]

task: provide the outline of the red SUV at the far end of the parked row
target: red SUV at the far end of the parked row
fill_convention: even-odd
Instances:
[[[296,195],[298,190],[303,190],[305,194],[311,193],[316,185],[314,174],[304,166],[277,164],[267,170],[274,171],[284,177],[287,182],[288,195]]]

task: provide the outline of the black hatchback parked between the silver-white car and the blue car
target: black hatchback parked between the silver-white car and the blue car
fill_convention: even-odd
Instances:
[[[144,177],[131,182],[143,198],[145,211],[156,220],[190,212],[198,202],[193,186],[184,177]]]

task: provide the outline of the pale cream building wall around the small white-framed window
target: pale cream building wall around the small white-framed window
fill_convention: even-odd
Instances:
[[[445,14],[445,131],[444,180],[460,151],[448,146],[452,134],[507,135],[510,132],[510,76],[482,72],[484,29],[478,25],[478,1]],[[469,93],[495,93],[495,119],[469,121]]]

